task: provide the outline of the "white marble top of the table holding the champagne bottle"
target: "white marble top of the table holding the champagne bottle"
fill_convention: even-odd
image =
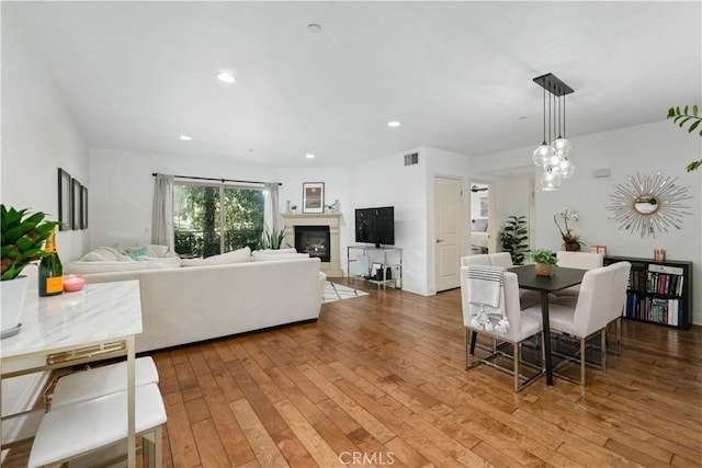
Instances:
[[[18,334],[0,341],[0,359],[141,333],[139,282],[89,284],[50,297],[29,290],[20,323]]]

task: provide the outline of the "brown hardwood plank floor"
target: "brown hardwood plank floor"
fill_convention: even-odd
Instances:
[[[458,289],[366,290],[316,323],[154,354],[165,466],[702,466],[701,327],[624,321],[586,388],[514,395],[464,370]]]

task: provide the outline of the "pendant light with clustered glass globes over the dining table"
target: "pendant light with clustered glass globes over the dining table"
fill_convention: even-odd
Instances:
[[[544,170],[540,178],[541,189],[555,191],[561,185],[561,179],[568,179],[575,171],[575,165],[569,160],[573,145],[566,138],[565,103],[565,96],[574,90],[553,73],[536,77],[534,82],[544,89],[544,132],[543,142],[534,150],[532,161]],[[546,91],[548,92],[548,133],[546,133]]]

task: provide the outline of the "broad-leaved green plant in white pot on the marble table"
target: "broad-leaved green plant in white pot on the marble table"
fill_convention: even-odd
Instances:
[[[22,276],[20,273],[26,265],[46,255],[44,241],[59,225],[56,221],[47,221],[45,218],[46,214],[42,212],[16,210],[4,205],[0,207],[0,222],[2,224],[1,331],[18,327],[27,286],[26,276]]]

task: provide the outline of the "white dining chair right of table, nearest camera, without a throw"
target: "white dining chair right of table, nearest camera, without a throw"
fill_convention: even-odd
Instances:
[[[613,300],[613,283],[615,271],[610,267],[589,270],[582,276],[580,290],[575,306],[571,300],[554,299],[550,301],[548,319],[552,336],[556,339],[571,339],[579,343],[578,351],[574,355],[564,356],[562,365],[556,366],[554,375],[566,380],[585,386],[586,364],[604,370],[607,368],[607,326],[611,321],[611,303]],[[587,361],[587,341],[589,338],[600,335],[600,364]],[[561,336],[558,336],[561,335]],[[580,379],[574,379],[557,370],[568,363],[580,364]]]

